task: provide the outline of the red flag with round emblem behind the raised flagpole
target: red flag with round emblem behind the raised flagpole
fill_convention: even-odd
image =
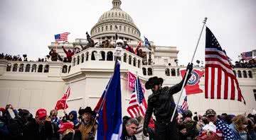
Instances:
[[[182,78],[185,76],[186,69],[181,70]],[[203,93],[203,90],[199,88],[198,83],[200,82],[200,78],[203,76],[204,71],[198,71],[194,69],[191,71],[191,78],[189,78],[187,85],[185,86],[186,95]]]

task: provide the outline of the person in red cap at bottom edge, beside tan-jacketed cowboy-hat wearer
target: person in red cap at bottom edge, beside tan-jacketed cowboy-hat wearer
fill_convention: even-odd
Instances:
[[[73,122],[65,122],[60,125],[60,129],[58,130],[61,135],[61,140],[81,140],[82,134],[76,129],[73,129]]]

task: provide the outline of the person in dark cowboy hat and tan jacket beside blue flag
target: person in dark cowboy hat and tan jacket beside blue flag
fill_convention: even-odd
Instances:
[[[92,111],[91,107],[85,107],[85,109],[80,110],[80,112],[82,113],[83,118],[82,123],[78,129],[82,133],[82,140],[94,139],[97,130],[97,124],[92,115],[95,115],[95,112]]]

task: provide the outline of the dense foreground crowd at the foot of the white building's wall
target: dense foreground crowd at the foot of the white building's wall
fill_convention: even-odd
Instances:
[[[41,108],[33,115],[24,109],[14,109],[6,105],[0,109],[0,139],[28,139],[28,140],[85,140],[95,139],[97,131],[96,112],[91,107],[73,110],[60,117],[57,110],[48,112]],[[193,117],[191,110],[186,110],[178,117],[178,139],[256,139],[256,115],[216,115],[212,109],[206,110],[204,115]],[[147,133],[144,132],[144,117],[123,117],[122,140],[152,140],[157,131],[155,119],[151,118]],[[173,134],[171,134],[173,135]]]

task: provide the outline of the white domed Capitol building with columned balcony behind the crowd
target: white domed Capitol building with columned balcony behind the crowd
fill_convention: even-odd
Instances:
[[[135,25],[131,16],[122,11],[120,0],[112,1],[112,8],[100,16],[92,27],[90,35],[95,42],[110,40],[126,40],[132,47],[137,47],[142,42],[142,51],[146,55],[138,57],[136,54],[122,50],[121,57],[121,86],[122,86],[122,115],[128,115],[127,106],[131,91],[128,91],[127,73],[137,74],[142,83],[146,83],[149,77],[159,76],[164,78],[164,86],[174,86],[181,81],[180,70],[185,66],[178,66],[177,47],[154,45],[151,42],[151,50],[144,46],[139,28]],[[115,37],[118,33],[118,38]],[[75,39],[68,42],[65,49],[73,49],[73,45],[80,47],[87,45],[87,40]],[[60,56],[64,57],[63,44],[52,42],[48,49],[57,49]],[[107,82],[113,74],[114,48],[89,47],[73,55],[72,62],[15,62],[0,59],[0,107],[6,104],[14,107],[30,110],[33,115],[38,108],[46,108],[48,112],[55,107],[57,100],[65,93],[69,83],[71,88],[68,99],[67,112],[78,110],[79,107],[95,107],[101,97]],[[105,57],[102,57],[102,55]],[[92,59],[94,56],[94,59]],[[194,66],[194,69],[204,70],[203,67]],[[213,108],[218,114],[242,114],[252,112],[256,107],[256,69],[235,68],[242,95],[246,105],[235,100],[210,100],[205,99],[204,93],[188,95],[189,109],[203,115],[208,108]],[[199,83],[204,91],[204,77]],[[148,90],[145,98],[151,94]],[[178,100],[179,93],[174,95]],[[181,99],[181,103],[183,99]]]

